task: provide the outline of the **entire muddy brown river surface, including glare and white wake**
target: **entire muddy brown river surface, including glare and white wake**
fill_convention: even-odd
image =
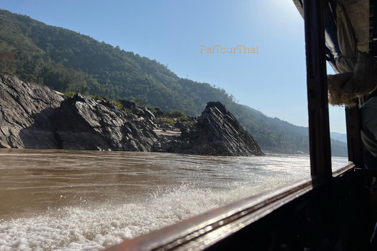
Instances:
[[[100,250],[308,176],[304,155],[0,149],[0,251]]]

